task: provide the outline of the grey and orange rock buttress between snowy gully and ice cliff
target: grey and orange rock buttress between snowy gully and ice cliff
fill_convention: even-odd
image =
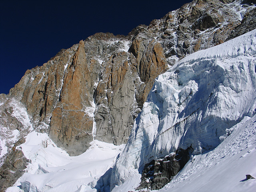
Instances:
[[[98,140],[127,141],[154,79],[167,68],[162,46],[155,40],[134,40],[130,51],[114,53],[102,64],[95,92]]]

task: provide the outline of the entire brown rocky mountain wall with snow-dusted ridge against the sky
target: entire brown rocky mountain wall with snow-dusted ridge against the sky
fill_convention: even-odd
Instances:
[[[11,172],[18,179],[26,168],[22,152],[10,150],[34,130],[70,156],[84,153],[93,140],[126,144],[155,78],[189,54],[255,29],[255,3],[194,0],[127,36],[94,34],[27,70],[8,95],[0,94],[1,180],[12,185]]]

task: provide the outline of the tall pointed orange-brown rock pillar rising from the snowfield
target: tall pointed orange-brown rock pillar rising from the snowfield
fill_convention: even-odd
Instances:
[[[93,79],[87,66],[84,41],[80,41],[73,61],[65,73],[60,102],[52,112],[49,136],[69,152],[78,155],[92,141]]]

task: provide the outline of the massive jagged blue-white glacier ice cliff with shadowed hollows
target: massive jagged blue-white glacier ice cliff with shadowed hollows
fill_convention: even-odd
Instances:
[[[256,30],[186,56],[158,76],[113,167],[114,188],[144,164],[192,147],[213,149],[256,112]]]

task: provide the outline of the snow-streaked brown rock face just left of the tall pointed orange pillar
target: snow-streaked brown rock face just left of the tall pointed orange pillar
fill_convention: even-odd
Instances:
[[[20,82],[10,90],[10,97],[26,106],[35,130],[49,131],[50,118],[62,89],[65,67],[70,63],[76,47],[62,50],[43,66],[27,70]]]

